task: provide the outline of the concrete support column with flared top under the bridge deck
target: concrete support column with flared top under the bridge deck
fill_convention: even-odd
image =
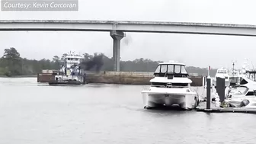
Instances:
[[[114,71],[120,71],[120,45],[121,40],[125,37],[122,31],[112,30],[110,31],[110,36],[113,38],[113,61],[114,61]]]

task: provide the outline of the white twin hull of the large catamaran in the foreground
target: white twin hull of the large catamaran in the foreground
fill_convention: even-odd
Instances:
[[[142,91],[144,107],[171,107],[178,104],[182,109],[193,109],[197,107],[197,94],[189,93],[163,93]]]

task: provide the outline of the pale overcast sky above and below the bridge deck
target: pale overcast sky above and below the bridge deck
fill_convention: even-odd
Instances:
[[[256,25],[255,6],[255,0],[79,0],[78,11],[0,11],[0,19]],[[112,46],[113,40],[107,32],[0,32],[0,54],[6,48],[15,47],[27,59],[52,59],[69,50],[99,52],[112,57]],[[245,58],[256,64],[255,50],[256,37],[126,33],[121,44],[121,59],[173,59],[187,66],[231,67],[232,59],[238,66]]]

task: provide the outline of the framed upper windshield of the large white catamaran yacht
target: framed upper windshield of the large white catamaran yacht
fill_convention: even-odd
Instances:
[[[184,65],[174,65],[174,64],[162,64],[158,65],[155,73],[176,73],[176,74],[187,74]]]

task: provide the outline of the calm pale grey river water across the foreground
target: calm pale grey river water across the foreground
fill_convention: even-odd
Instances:
[[[144,110],[144,87],[0,78],[0,143],[255,143],[255,114]]]

